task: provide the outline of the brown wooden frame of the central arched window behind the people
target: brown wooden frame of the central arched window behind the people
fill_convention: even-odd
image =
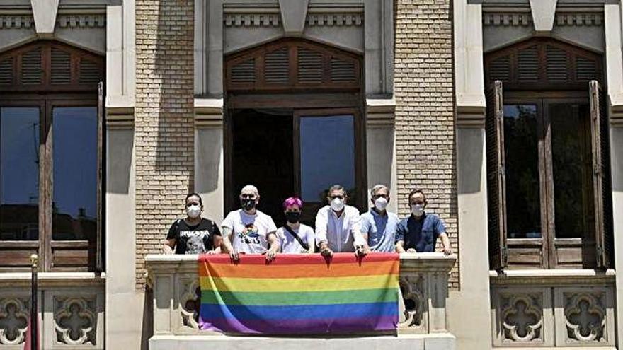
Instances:
[[[320,84],[296,83],[296,52],[297,46],[323,52],[324,81]],[[263,83],[263,55],[280,47],[288,47],[290,53],[290,81],[287,84]],[[354,83],[326,83],[328,66],[326,57],[340,57],[355,64],[356,82]],[[229,69],[236,63],[250,58],[256,59],[256,83],[234,83],[229,75]],[[355,118],[355,186],[357,187],[358,201],[350,203],[360,210],[367,209],[367,172],[365,159],[365,95],[363,95],[363,59],[359,54],[347,52],[311,40],[301,38],[285,38],[268,42],[258,47],[246,49],[242,52],[229,54],[224,62],[225,81],[225,108],[223,116],[224,132],[224,204],[226,210],[239,208],[239,189],[232,188],[232,115],[234,110],[246,108],[284,108],[293,110],[292,117],[294,130],[292,140],[295,147],[295,190],[300,191],[300,149],[297,141],[299,137],[299,117],[301,113],[312,116],[350,114]],[[313,116],[315,116],[314,114]],[[317,204],[314,204],[317,205]],[[305,210],[304,213],[309,213]],[[315,214],[315,213],[314,213]]]

